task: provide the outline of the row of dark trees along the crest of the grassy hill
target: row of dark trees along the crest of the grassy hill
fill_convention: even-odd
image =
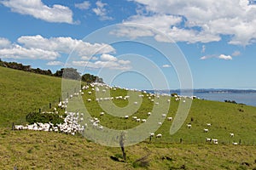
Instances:
[[[31,67],[31,65],[22,65],[16,62],[6,62],[6,61],[2,61],[2,59],[0,59],[0,66],[15,69],[15,70],[20,70],[20,71],[27,71],[27,72],[32,72],[36,74],[47,75],[51,77],[65,77],[67,79],[81,80],[83,82],[88,82],[88,83],[90,82],[103,83],[103,79],[101,77],[90,75],[89,73],[86,73],[81,76],[81,73],[79,73],[77,69],[74,69],[74,68],[61,68],[60,71],[56,71],[55,73],[52,73],[50,70],[42,70],[40,68],[34,69]]]

